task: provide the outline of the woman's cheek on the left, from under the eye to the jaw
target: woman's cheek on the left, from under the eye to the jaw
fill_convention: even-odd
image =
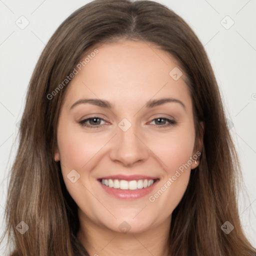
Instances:
[[[84,201],[94,202],[95,198],[88,192],[91,190],[89,172],[83,170],[91,168],[93,156],[102,148],[104,141],[94,133],[85,134],[66,123],[60,126],[57,137],[61,172],[69,194],[77,205],[82,206]],[[84,180],[88,182],[84,184]]]

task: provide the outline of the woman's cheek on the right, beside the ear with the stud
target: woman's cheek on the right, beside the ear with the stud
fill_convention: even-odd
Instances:
[[[154,151],[157,152],[165,172],[148,200],[152,207],[162,209],[164,218],[178,205],[187,188],[194,135],[192,131],[166,134],[164,138],[160,137],[158,142],[162,143],[154,146]]]

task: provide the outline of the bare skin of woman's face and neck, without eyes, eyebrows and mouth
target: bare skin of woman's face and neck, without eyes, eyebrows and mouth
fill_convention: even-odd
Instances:
[[[185,74],[174,80],[169,72],[178,67],[175,59],[149,43],[119,40],[97,49],[95,57],[68,84],[54,154],[60,160],[67,190],[78,205],[77,237],[90,255],[167,255],[171,213],[199,160],[192,161],[153,202],[148,197],[198,151]],[[144,107],[147,100],[161,97],[178,99],[185,108],[177,102]],[[80,103],[70,109],[83,98],[105,99],[114,107]],[[94,115],[102,118],[98,120],[101,127],[78,123]],[[162,127],[168,121],[157,122],[155,118],[160,117],[174,119],[176,124]],[[127,131],[118,127],[123,118],[131,123]],[[74,183],[67,178],[72,169],[80,175]],[[122,200],[106,193],[97,181],[114,174],[145,174],[157,176],[159,181],[150,194]],[[127,233],[118,227],[123,221],[130,226]]]

